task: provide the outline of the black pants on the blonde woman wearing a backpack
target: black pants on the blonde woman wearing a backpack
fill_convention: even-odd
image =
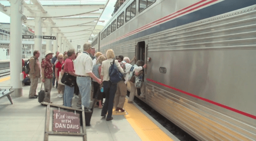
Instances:
[[[115,97],[115,91],[117,91],[117,84],[112,84],[110,81],[104,81],[103,89],[106,95],[106,99],[102,108],[102,115],[107,114],[106,119],[110,119],[112,117],[113,101]]]

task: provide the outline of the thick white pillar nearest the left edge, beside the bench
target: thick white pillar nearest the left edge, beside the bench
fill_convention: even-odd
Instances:
[[[11,85],[14,92],[12,97],[22,96],[22,14],[19,11],[21,8],[21,0],[11,0],[11,40],[10,40],[10,70],[11,70]]]

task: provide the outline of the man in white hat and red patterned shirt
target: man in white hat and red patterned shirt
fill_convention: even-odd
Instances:
[[[45,52],[45,59],[42,60],[41,62],[41,67],[42,67],[42,82],[44,84],[44,91],[45,91],[45,96],[44,96],[44,102],[50,103],[51,102],[51,88],[52,88],[52,67],[53,65],[51,64],[51,58],[52,58],[53,53],[51,51],[46,51]]]

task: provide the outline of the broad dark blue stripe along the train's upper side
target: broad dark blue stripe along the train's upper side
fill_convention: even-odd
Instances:
[[[204,7],[203,9],[197,10],[195,12],[183,15],[179,18],[167,21],[165,23],[154,26],[152,28],[146,29],[142,32],[128,36],[126,38],[123,38],[122,40],[111,43],[109,45],[115,45],[115,44],[119,44],[122,42],[134,40],[139,37],[158,33],[163,30],[170,29],[170,28],[186,25],[191,22],[211,18],[211,17],[214,17],[215,15],[220,15],[223,13],[235,11],[235,10],[242,9],[244,7],[251,6],[254,4],[256,4],[256,0],[225,0],[225,1],[222,1],[222,2],[219,2],[216,4]]]

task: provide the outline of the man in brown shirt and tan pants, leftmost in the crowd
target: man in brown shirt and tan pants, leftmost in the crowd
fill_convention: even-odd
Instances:
[[[37,98],[36,88],[38,84],[38,77],[40,77],[40,62],[38,57],[40,56],[40,52],[35,50],[33,52],[34,56],[29,59],[29,77],[30,77],[30,89],[28,98]]]

